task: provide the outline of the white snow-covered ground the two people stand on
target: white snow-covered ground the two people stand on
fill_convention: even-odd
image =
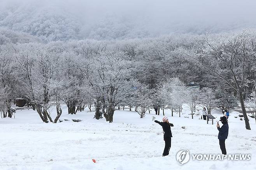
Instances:
[[[82,119],[81,122],[42,123],[33,110],[17,111],[15,119],[0,119],[0,170],[157,170],[157,169],[256,169],[256,124],[250,118],[252,130],[245,130],[244,121],[231,113],[228,154],[252,154],[249,161],[190,161],[179,165],[176,153],[188,149],[192,154],[219,154],[216,121],[170,116],[172,147],[162,157],[164,141],[162,128],[152,121],[161,121],[162,115],[147,114],[140,118],[134,111],[115,111],[114,123],[93,119],[93,112],[67,115],[64,119]],[[54,109],[52,110],[54,111]],[[53,113],[52,113],[53,114]],[[221,113],[215,111],[217,119]],[[186,128],[181,128],[185,126]],[[93,163],[92,159],[96,160]]]

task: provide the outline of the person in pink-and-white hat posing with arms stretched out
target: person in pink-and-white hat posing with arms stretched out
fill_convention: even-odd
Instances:
[[[167,117],[163,118],[163,122],[160,122],[157,120],[155,120],[155,122],[161,125],[163,128],[163,132],[164,132],[163,140],[165,141],[165,149],[163,150],[162,156],[167,156],[169,154],[170,147],[171,147],[171,137],[172,137],[171,127],[173,127],[174,125],[172,123],[169,123]]]

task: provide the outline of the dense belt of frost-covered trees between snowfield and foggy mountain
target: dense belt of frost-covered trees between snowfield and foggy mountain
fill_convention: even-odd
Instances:
[[[191,118],[196,104],[208,113],[240,105],[250,129],[245,108],[248,103],[256,108],[254,31],[55,42],[5,29],[1,36],[3,117],[12,117],[11,104],[18,97],[45,123],[58,121],[63,104],[69,114],[94,104],[95,118],[109,122],[119,105],[134,106],[141,118],[147,109],[160,107],[180,115],[184,103]],[[191,82],[199,87],[189,87]],[[48,111],[53,104],[54,118]]]

